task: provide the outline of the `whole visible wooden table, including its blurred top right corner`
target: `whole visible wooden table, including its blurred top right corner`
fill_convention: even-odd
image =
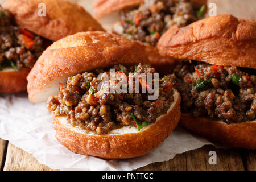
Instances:
[[[3,1],[3,0],[1,0]],[[255,0],[209,0],[217,5],[217,14],[229,13],[239,18],[256,19]],[[216,151],[217,164],[210,165],[209,151]],[[1,170],[51,170],[40,164],[31,154],[0,139]],[[256,170],[256,150],[218,149],[204,146],[177,154],[167,162],[152,163],[139,170]]]

